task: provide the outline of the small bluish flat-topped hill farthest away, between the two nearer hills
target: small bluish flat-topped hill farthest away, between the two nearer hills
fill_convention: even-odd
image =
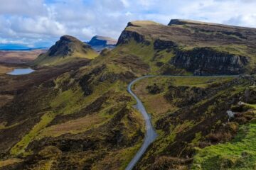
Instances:
[[[88,44],[97,52],[102,51],[105,48],[112,49],[117,44],[117,40],[113,38],[95,35]]]

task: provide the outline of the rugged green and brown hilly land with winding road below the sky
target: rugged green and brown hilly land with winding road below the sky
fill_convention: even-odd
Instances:
[[[0,75],[0,169],[255,169],[255,42],[183,20],[129,22],[100,52],[63,35]]]

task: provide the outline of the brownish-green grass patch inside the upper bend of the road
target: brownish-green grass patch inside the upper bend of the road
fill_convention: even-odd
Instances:
[[[133,91],[144,103],[148,113],[153,115],[153,122],[156,119],[161,118],[166,113],[173,113],[177,111],[178,108],[172,103],[169,103],[164,98],[166,91],[169,91],[168,86],[190,86],[190,87],[200,87],[206,88],[211,84],[224,83],[225,81],[230,81],[234,79],[233,77],[149,77],[137,81],[134,84]],[[156,83],[157,82],[157,83]],[[149,94],[146,90],[146,86],[156,83],[161,87],[162,91],[160,94]],[[157,101],[157,102],[156,102]]]

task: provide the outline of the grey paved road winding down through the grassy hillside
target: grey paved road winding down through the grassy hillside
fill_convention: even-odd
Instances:
[[[140,113],[142,113],[144,120],[146,122],[146,137],[144,138],[144,142],[142,144],[142,147],[139,149],[137,154],[134,156],[131,162],[129,162],[126,170],[132,170],[132,168],[137,164],[139,159],[142,157],[142,154],[146,152],[146,148],[149,147],[149,145],[156,140],[157,134],[156,131],[154,130],[153,126],[151,125],[151,121],[149,118],[149,114],[146,113],[146,109],[144,108],[142,101],[139,100],[139,98],[132,92],[132,85],[141,79],[145,79],[147,77],[154,77],[154,76],[144,76],[144,77],[139,77],[138,79],[134,79],[129,85],[128,85],[128,92],[131,94],[135,100],[137,101],[136,108],[139,110]]]

